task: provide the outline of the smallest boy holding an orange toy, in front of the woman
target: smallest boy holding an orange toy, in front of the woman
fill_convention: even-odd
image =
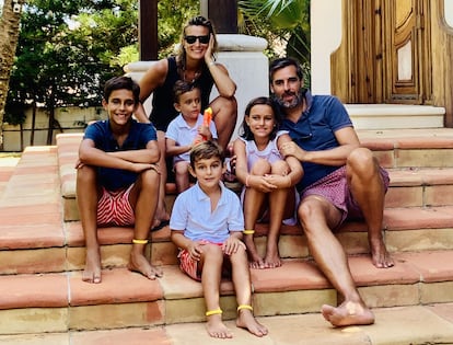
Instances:
[[[189,151],[200,137],[217,140],[213,122],[204,124],[201,112],[201,91],[198,87],[178,80],[173,89],[174,107],[179,112],[169,125],[165,133],[165,153],[173,157],[177,193],[189,187]]]

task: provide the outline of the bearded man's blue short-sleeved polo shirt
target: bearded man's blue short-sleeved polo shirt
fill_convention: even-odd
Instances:
[[[345,106],[335,96],[312,96],[309,91],[305,93],[305,101],[307,108],[299,120],[294,124],[283,119],[281,129],[288,130],[292,140],[305,151],[322,151],[338,147],[335,131],[352,127]],[[302,162],[302,166],[304,175],[297,186],[300,192],[339,168],[307,162]]]

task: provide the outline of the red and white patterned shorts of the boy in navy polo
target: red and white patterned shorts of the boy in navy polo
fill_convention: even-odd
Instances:
[[[131,184],[126,189],[107,191],[102,188],[101,199],[97,202],[97,225],[127,227],[136,222],[132,206],[129,203]]]

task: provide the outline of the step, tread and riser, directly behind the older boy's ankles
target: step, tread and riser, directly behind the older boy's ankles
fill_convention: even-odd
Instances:
[[[27,214],[23,209],[0,208],[0,274],[78,271],[84,266],[85,248],[80,222],[56,222],[54,212]],[[453,249],[453,207],[393,208],[384,212],[384,235],[391,252]],[[36,225],[36,222],[40,222]],[[266,225],[256,229],[256,243],[264,252]],[[104,267],[125,267],[131,249],[131,228],[101,228]],[[348,222],[337,232],[348,254],[368,254],[363,222]],[[155,265],[177,263],[177,249],[170,240],[169,227],[151,233],[148,255]],[[299,227],[283,226],[280,237],[283,258],[307,258],[305,237]]]

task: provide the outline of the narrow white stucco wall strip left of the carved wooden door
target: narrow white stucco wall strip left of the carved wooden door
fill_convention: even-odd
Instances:
[[[452,0],[448,0],[452,1]],[[453,1],[452,1],[453,2]],[[312,92],[330,94],[330,54],[341,43],[341,0],[311,2]]]

